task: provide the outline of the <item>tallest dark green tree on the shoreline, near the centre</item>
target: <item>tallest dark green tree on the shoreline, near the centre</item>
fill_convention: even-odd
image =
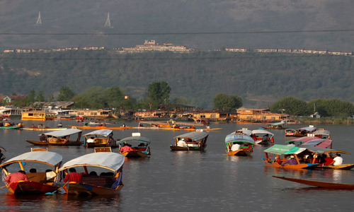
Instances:
[[[165,81],[150,83],[147,88],[147,97],[151,99],[151,104],[157,107],[161,104],[169,103],[171,88]]]

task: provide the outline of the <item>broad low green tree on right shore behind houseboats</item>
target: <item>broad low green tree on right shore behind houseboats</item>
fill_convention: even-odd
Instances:
[[[285,110],[285,113],[303,116],[310,114],[309,107],[304,100],[300,100],[293,97],[282,98],[270,105],[270,111],[279,113],[281,110]]]

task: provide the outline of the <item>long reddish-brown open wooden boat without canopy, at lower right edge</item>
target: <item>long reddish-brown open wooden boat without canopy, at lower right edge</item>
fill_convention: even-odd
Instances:
[[[291,182],[297,182],[299,184],[307,184],[313,187],[320,187],[320,188],[326,188],[326,189],[354,189],[354,184],[346,184],[346,183],[336,183],[336,182],[322,182],[322,181],[316,181],[316,180],[309,180],[309,179],[296,179],[296,178],[290,178],[290,177],[278,177],[278,176],[272,176],[276,177],[279,179],[285,179],[287,181]]]

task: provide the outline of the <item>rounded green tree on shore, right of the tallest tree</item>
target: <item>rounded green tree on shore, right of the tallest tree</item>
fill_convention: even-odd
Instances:
[[[242,99],[237,95],[226,95],[225,93],[215,95],[214,107],[216,110],[232,112],[241,106]]]

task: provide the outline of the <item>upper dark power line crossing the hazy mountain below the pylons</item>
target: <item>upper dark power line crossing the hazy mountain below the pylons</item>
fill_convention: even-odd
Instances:
[[[275,34],[275,33],[341,33],[354,30],[279,30],[251,32],[181,32],[181,33],[0,33],[0,35],[222,35],[222,34]]]

